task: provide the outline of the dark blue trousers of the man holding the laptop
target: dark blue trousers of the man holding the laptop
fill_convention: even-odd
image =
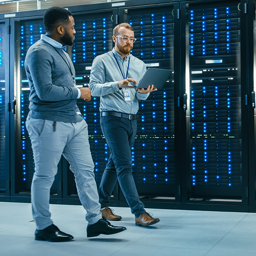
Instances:
[[[123,117],[102,116],[100,127],[111,152],[100,182],[100,204],[102,207],[109,206],[110,196],[118,180],[124,197],[137,218],[146,212],[139,199],[132,174],[131,147],[136,137],[137,121]]]

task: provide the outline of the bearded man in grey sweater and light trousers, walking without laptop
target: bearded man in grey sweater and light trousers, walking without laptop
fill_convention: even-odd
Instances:
[[[36,240],[64,242],[73,236],[61,232],[49,212],[50,188],[61,154],[74,173],[80,201],[86,209],[87,237],[126,230],[102,219],[94,180],[87,123],[76,102],[91,99],[89,88],[76,88],[75,70],[63,46],[74,41],[72,13],[51,7],[44,14],[46,35],[27,51],[25,69],[29,80],[29,114],[26,127],[31,139],[35,172],[31,184],[31,205],[36,222]]]

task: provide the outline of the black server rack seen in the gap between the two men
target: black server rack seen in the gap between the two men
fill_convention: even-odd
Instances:
[[[87,9],[87,8],[84,8]],[[72,9],[70,9],[72,11]],[[76,70],[77,87],[88,87],[90,70],[93,59],[113,48],[112,31],[117,25],[117,9],[104,9],[72,12],[75,21],[76,37],[69,53]],[[94,174],[97,186],[99,186],[102,174],[109,158],[109,147],[102,134],[99,123],[100,98],[92,97],[90,102],[77,100],[84,119],[88,124],[90,150],[94,161]],[[63,199],[64,202],[80,204],[73,173],[69,170],[69,163],[65,162],[63,168]],[[113,205],[118,205],[119,189],[116,185],[111,199]]]

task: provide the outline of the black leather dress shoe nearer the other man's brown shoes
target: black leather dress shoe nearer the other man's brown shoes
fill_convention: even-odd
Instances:
[[[98,222],[87,226],[87,237],[99,236],[100,234],[112,235],[126,230],[126,227],[111,225],[107,220],[100,219]]]

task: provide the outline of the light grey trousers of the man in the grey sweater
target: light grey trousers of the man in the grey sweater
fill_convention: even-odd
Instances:
[[[102,218],[99,195],[94,179],[94,164],[88,141],[87,123],[56,122],[27,117],[35,172],[31,184],[31,205],[37,229],[53,224],[49,212],[50,188],[57,173],[61,154],[69,161],[74,173],[79,199],[86,209],[88,224]]]

